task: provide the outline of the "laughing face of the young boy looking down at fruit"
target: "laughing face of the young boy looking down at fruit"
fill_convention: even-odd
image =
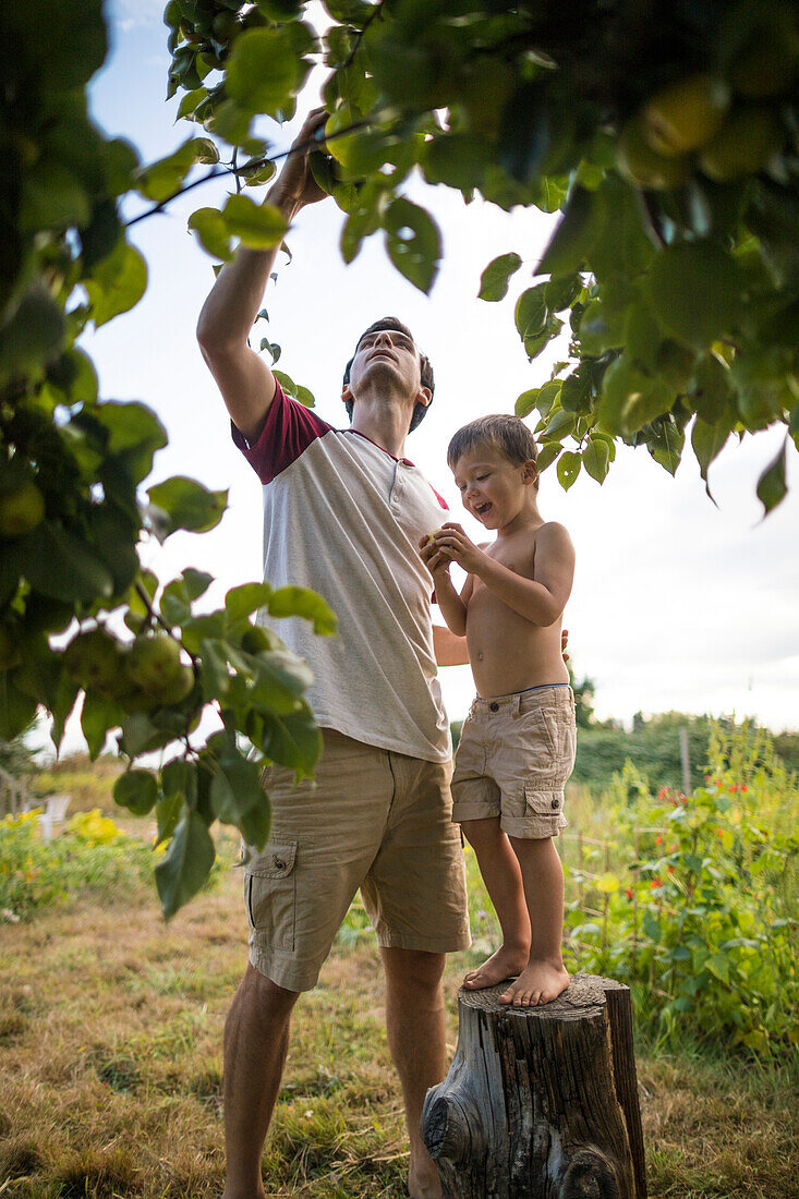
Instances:
[[[491,445],[468,450],[456,462],[452,474],[463,507],[486,529],[510,524],[535,495],[535,463],[515,465]]]

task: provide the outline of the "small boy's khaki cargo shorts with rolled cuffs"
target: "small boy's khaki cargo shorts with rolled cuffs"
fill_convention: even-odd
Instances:
[[[499,817],[511,837],[557,837],[576,749],[571,687],[477,697],[455,755],[452,819]]]

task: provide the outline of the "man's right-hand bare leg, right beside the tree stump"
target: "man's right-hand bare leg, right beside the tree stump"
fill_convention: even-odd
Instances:
[[[443,953],[382,948],[386,981],[389,1048],[400,1074],[410,1140],[408,1193],[411,1199],[440,1199],[438,1167],[421,1139],[425,1095],[446,1071]]]

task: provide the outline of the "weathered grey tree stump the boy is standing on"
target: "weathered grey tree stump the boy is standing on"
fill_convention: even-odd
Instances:
[[[458,992],[421,1129],[445,1199],[647,1199],[630,989],[576,975],[542,1007]]]

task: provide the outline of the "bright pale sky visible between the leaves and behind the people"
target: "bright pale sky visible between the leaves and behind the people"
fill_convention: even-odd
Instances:
[[[164,103],[168,54],[161,0],[115,0],[114,46],[92,86],[92,110],[104,129],[130,138],[144,161],[169,152],[198,131],[174,123],[179,97]],[[275,149],[292,128],[268,122]],[[104,398],[140,399],[168,428],[170,445],[155,478],[188,474],[209,487],[230,488],[220,528],[203,537],[178,535],[154,565],[164,579],[186,565],[214,572],[222,590],[259,577],[260,484],[233,447],[222,400],[194,341],[194,325],[214,282],[211,259],[186,229],[197,207],[220,204],[216,182],[196,189],[168,213],[137,225],[150,282],[144,300],[85,347]],[[256,198],[262,191],[251,193]],[[342,368],[358,335],[373,319],[395,314],[410,325],[435,369],[435,398],[407,454],[449,500],[473,536],[481,530],[459,508],[445,462],[453,430],[491,411],[512,411],[521,391],[549,376],[553,356],[528,363],[516,335],[512,305],[529,285],[552,218],[534,211],[505,215],[467,206],[444,188],[411,185],[408,194],[435,216],[445,257],[425,296],[391,267],[380,237],[346,266],[338,254],[342,213],[329,200],[306,209],[289,234],[293,261],[281,255],[277,284],[265,303],[263,332],[282,345],[280,367],[311,387],[320,416],[344,424]],[[500,305],[476,299],[480,272],[494,255],[516,249],[525,260]],[[776,452],[779,435],[747,438],[725,451],[710,471],[719,507],[704,494],[686,456],[668,476],[644,450],[620,447],[600,487],[581,475],[564,493],[547,471],[540,507],[561,520],[577,549],[577,573],[566,610],[572,663],[596,682],[602,718],[629,721],[636,711],[679,709],[756,716],[774,729],[799,728],[799,472],[797,488],[761,523],[755,486]],[[464,715],[473,687],[467,667],[443,673],[452,718]]]

